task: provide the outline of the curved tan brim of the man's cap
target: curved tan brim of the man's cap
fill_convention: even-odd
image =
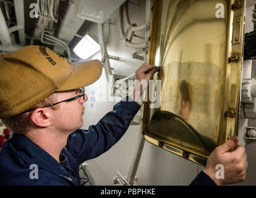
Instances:
[[[93,84],[102,74],[102,63],[99,60],[74,62],[73,72],[56,90],[57,92],[73,90]]]

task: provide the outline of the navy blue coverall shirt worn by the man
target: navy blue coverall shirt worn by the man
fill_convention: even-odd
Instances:
[[[69,135],[60,163],[29,138],[14,134],[0,152],[0,185],[81,185],[79,165],[98,157],[121,139],[140,106],[126,97],[99,123]],[[32,174],[38,167],[38,174]],[[37,178],[38,177],[38,178]],[[193,183],[200,185],[202,178]],[[211,184],[206,175],[203,184]],[[214,184],[214,183],[213,183]]]

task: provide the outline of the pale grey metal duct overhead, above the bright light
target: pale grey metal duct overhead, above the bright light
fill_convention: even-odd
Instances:
[[[102,24],[125,0],[82,0],[79,2],[77,17]]]

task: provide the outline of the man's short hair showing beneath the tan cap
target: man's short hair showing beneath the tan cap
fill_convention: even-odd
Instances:
[[[49,97],[45,98],[44,100],[40,101],[40,103],[38,103],[37,105],[33,106],[32,109],[52,105],[53,103],[55,103],[54,93],[51,94]],[[51,108],[52,110],[57,110],[58,108],[60,108],[60,106],[55,105],[50,106],[49,108]],[[2,118],[2,122],[11,132],[25,135],[28,131],[29,114],[31,112],[17,114],[16,116],[12,116],[10,118]]]

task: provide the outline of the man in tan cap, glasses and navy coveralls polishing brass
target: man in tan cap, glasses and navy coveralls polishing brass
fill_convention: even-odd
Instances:
[[[136,79],[148,80],[156,66],[143,64]],[[0,153],[1,185],[80,185],[79,165],[106,152],[125,134],[140,106],[135,90],[99,123],[79,129],[87,100],[84,88],[99,79],[100,61],[71,63],[42,46],[25,46],[0,58],[0,118],[14,132]],[[229,184],[244,180],[244,147],[237,138],[218,147],[192,182]],[[235,162],[235,163],[234,163]],[[225,167],[218,181],[215,165]]]

